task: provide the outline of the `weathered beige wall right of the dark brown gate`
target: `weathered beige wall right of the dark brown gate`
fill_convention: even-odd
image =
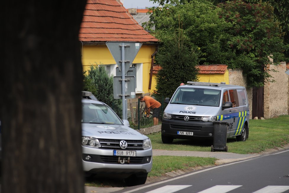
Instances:
[[[271,118],[278,115],[288,115],[288,75],[286,62],[279,65],[269,66],[270,75],[275,82],[264,85],[264,118]],[[276,70],[274,72],[272,70]]]

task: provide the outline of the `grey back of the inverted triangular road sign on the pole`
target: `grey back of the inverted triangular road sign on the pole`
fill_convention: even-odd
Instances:
[[[113,56],[114,60],[116,61],[116,64],[118,65],[121,72],[123,69],[121,69],[121,44],[124,43],[124,73],[129,70],[129,67],[131,66],[134,58],[136,57],[137,53],[139,52],[140,47],[142,46],[141,42],[121,42],[121,41],[107,41],[106,46],[108,47],[109,51],[111,52],[111,55]]]

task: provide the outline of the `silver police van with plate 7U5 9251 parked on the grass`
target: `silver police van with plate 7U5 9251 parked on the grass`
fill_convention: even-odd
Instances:
[[[246,141],[249,136],[249,103],[246,88],[225,83],[191,82],[166,98],[161,135],[173,139],[214,136],[214,122],[228,123],[227,137]]]

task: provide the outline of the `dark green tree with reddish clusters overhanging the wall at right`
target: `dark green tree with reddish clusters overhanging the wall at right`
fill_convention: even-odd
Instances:
[[[232,53],[229,67],[241,68],[249,86],[260,87],[269,81],[267,64],[283,59],[283,33],[273,17],[269,3],[250,4],[241,0],[218,4],[220,18],[231,23],[227,32],[231,38],[225,51]]]

